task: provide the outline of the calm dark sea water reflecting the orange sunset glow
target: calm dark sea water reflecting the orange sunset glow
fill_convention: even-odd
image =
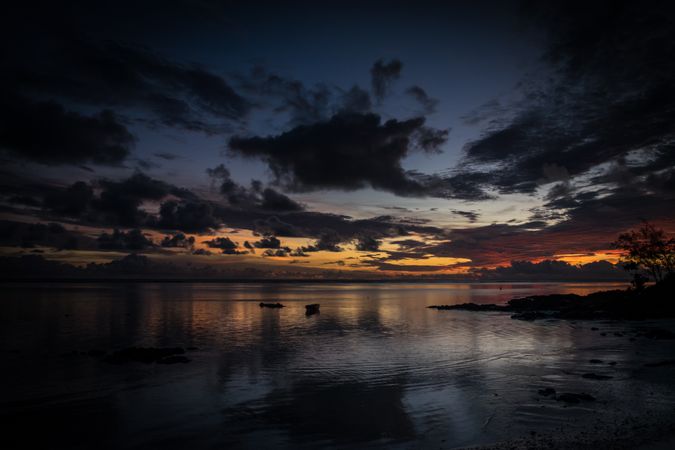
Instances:
[[[426,308],[619,287],[2,285],[0,447],[452,448],[614,414],[672,414],[673,372],[644,369],[672,358],[672,341],[628,338],[649,322]],[[308,303],[321,313],[305,316]],[[128,346],[197,350],[173,365],[81,354]],[[565,406],[540,396],[543,387],[598,401]]]

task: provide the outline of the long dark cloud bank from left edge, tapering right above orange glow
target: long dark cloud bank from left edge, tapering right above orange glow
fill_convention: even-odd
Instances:
[[[338,243],[362,235],[379,239],[410,232],[440,232],[427,223],[389,216],[353,220],[348,216],[321,212],[272,212],[255,205],[252,209],[233,208],[202,199],[195,193],[142,173],[116,181],[76,182],[67,187],[30,184],[24,180],[0,189],[5,199],[14,196],[32,199],[35,206],[27,211],[21,204],[16,204],[13,209],[16,213],[29,212],[45,216],[47,220],[65,219],[91,226],[114,224],[201,233],[225,224],[235,229],[251,229],[263,236],[320,238],[325,234],[336,234],[339,237],[334,240]],[[36,210],[40,205],[41,208]]]

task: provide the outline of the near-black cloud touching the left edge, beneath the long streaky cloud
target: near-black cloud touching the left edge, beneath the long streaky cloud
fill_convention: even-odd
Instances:
[[[47,165],[119,165],[135,138],[111,111],[84,115],[0,92],[0,151]]]

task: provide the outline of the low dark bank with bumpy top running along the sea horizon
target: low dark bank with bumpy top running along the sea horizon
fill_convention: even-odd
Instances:
[[[545,260],[538,263],[513,261],[511,265],[493,269],[470,270],[460,274],[404,275],[360,273],[348,271],[311,271],[266,273],[255,268],[214,267],[213,265],[180,265],[157,262],[138,254],[129,254],[109,263],[84,266],[53,261],[42,255],[0,258],[0,281],[134,281],[134,282],[228,282],[228,283],[349,283],[349,282],[609,282],[628,281],[628,274],[617,264],[607,261],[574,265],[564,261]]]

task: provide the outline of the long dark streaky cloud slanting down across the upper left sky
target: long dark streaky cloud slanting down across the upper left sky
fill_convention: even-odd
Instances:
[[[124,109],[140,118],[217,133],[240,122],[249,103],[221,76],[171,61],[140,46],[97,42],[45,27],[3,61],[5,84],[28,95],[69,104]],[[111,95],[114,93],[114,95]]]

